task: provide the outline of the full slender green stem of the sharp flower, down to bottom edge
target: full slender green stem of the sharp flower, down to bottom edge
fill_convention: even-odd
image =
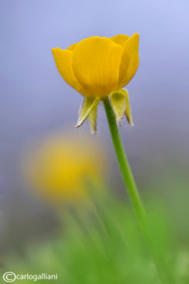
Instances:
[[[117,155],[117,160],[119,163],[119,168],[121,170],[121,175],[124,180],[124,184],[129,193],[129,199],[131,200],[132,207],[134,208],[134,212],[136,213],[136,217],[139,221],[139,226],[141,227],[142,234],[144,235],[144,239],[146,240],[146,245],[153,257],[153,261],[156,264],[158,276],[163,283],[175,283],[173,280],[173,275],[168,268],[168,265],[163,256],[160,256],[153,248],[153,240],[151,239],[151,232],[148,228],[146,212],[144,206],[141,202],[141,198],[139,196],[139,192],[136,187],[136,183],[134,181],[134,176],[131,172],[131,168],[129,166],[129,162],[126,158],[126,153],[124,152],[124,147],[121,143],[121,138],[119,136],[119,130],[117,127],[117,122],[114,116],[114,111],[112,110],[112,106],[109,102],[109,99],[104,99],[104,108],[107,114],[107,120],[109,124],[109,130],[112,136],[112,141],[114,144],[114,150]]]

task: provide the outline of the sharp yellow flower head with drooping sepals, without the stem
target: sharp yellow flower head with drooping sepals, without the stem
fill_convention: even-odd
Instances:
[[[117,123],[124,113],[132,125],[129,94],[126,86],[139,65],[139,34],[115,35],[112,38],[94,36],[74,43],[66,50],[53,48],[53,56],[60,75],[85,98],[79,111],[76,127],[89,119],[96,131],[97,104],[109,97]]]

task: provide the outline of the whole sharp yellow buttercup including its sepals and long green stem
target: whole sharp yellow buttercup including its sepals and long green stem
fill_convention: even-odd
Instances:
[[[80,43],[74,43],[67,50],[53,49],[60,75],[84,96],[76,127],[81,126],[85,119],[88,119],[92,132],[95,132],[97,128],[97,104],[100,100],[104,104],[124,185],[136,213],[141,232],[144,234],[144,239],[156,265],[161,258],[154,253],[153,246],[151,246],[146,210],[137,190],[117,127],[117,124],[121,125],[124,114],[129,124],[132,125],[129,94],[126,89],[122,88],[129,83],[136,73],[139,65],[138,53],[138,33],[134,33],[130,38],[127,35],[115,35],[112,38],[95,36],[81,40]],[[162,261],[166,263],[163,258]],[[159,266],[157,266],[158,273],[161,273],[162,269],[159,271],[158,268]],[[169,280],[170,275],[171,273],[168,271]],[[160,278],[164,279],[165,276],[163,273]],[[171,281],[168,282],[171,283]]]

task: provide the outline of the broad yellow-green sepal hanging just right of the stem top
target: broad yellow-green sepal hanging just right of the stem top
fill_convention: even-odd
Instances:
[[[112,103],[112,108],[116,116],[116,121],[118,125],[122,124],[122,119],[124,112],[126,110],[126,94],[122,90],[114,91],[110,93],[110,102]]]

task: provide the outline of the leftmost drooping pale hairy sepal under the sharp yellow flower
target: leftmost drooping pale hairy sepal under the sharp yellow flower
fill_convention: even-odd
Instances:
[[[92,114],[92,111],[95,110],[95,108],[97,107],[97,104],[99,103],[99,98],[90,98],[90,97],[85,97],[82,100],[82,104],[80,106],[78,115],[79,118],[77,120],[77,124],[76,124],[76,128],[80,127],[83,122],[85,121],[85,119],[87,119],[87,117],[90,116],[90,114]],[[90,121],[94,120],[94,115],[92,114]],[[93,122],[94,124],[94,122]]]

